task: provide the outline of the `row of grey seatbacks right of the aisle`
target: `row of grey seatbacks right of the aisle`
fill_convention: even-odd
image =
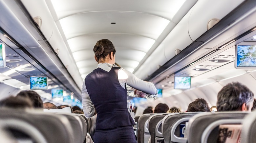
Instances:
[[[255,133],[256,112],[144,114],[138,119],[138,143],[217,143],[235,136],[255,143]]]

